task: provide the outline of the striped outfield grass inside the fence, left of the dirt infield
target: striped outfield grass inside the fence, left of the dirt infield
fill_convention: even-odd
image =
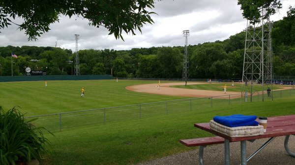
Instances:
[[[26,116],[35,116],[185,98],[125,89],[148,83],[157,81],[47,81],[47,87],[44,81],[0,83],[0,104],[3,109],[20,106]],[[80,96],[82,87],[85,97]]]

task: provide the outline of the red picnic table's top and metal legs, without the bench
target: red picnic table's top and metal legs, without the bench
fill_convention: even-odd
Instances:
[[[202,130],[210,132],[216,136],[224,138],[224,158],[225,165],[230,165],[230,142],[240,141],[241,146],[241,165],[247,165],[247,162],[253,158],[258,152],[260,152],[267,144],[269,144],[274,138],[280,136],[286,136],[284,146],[288,154],[295,157],[289,147],[289,137],[290,135],[295,135],[295,115],[289,116],[277,116],[267,118],[267,128],[266,132],[263,135],[252,136],[252,137],[230,137],[225,134],[216,132],[210,129],[209,123],[195,123],[195,127],[198,127]],[[255,141],[257,139],[266,139],[269,138],[257,151],[251,154],[248,158],[246,157],[246,141]]]

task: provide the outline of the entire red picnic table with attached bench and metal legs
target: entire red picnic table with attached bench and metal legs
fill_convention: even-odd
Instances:
[[[208,131],[216,135],[215,137],[180,140],[180,143],[188,147],[199,146],[199,162],[201,165],[204,165],[203,154],[204,154],[204,148],[207,145],[224,143],[225,165],[230,165],[229,143],[240,141],[241,165],[247,165],[247,162],[251,158],[253,158],[257,153],[259,153],[272,140],[280,136],[285,136],[284,147],[287,153],[290,156],[295,157],[295,153],[293,153],[288,147],[290,135],[295,135],[295,115],[268,118],[266,133],[264,133],[263,135],[252,136],[252,137],[230,137],[210,129],[209,123],[195,123],[195,127],[198,127],[202,130]],[[246,141],[254,142],[257,139],[265,139],[265,138],[269,138],[269,139],[260,148],[258,148],[253,154],[251,154],[248,158],[246,158]]]

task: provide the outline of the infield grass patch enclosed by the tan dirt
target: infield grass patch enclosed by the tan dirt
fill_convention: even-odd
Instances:
[[[250,91],[251,89],[245,89],[245,85],[236,83],[234,87],[232,87],[231,83],[211,83],[211,84],[194,84],[194,85],[177,85],[171,86],[174,88],[184,88],[184,89],[194,89],[194,90],[209,90],[209,91],[223,91],[224,85],[227,85],[227,92],[241,92],[241,91]],[[250,88],[250,86],[248,86]],[[266,91],[269,85],[264,86],[264,90]],[[282,86],[273,85],[272,89],[277,90],[281,89]],[[262,86],[261,85],[253,85],[253,92],[261,92]]]

